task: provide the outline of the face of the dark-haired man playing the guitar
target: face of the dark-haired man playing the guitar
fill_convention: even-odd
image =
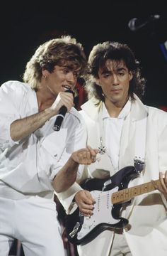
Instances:
[[[97,84],[102,88],[105,102],[110,101],[115,105],[125,105],[129,92],[129,81],[132,73],[125,63],[115,60],[107,60],[106,68],[98,70]]]

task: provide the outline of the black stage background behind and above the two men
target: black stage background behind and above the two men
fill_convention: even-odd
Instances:
[[[103,41],[127,43],[142,65],[147,80],[144,102],[167,105],[167,60],[161,50],[167,41],[166,1],[6,1],[1,7],[1,77],[22,80],[25,65],[36,48],[51,38],[70,34],[84,46],[86,55]],[[156,21],[151,15],[159,14]],[[146,26],[132,31],[138,18]]]

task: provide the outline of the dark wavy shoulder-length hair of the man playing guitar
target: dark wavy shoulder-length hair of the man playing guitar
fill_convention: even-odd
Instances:
[[[103,91],[96,84],[95,78],[98,78],[99,68],[107,69],[107,60],[113,60],[115,63],[123,61],[127,69],[132,72],[133,78],[129,82],[129,95],[134,100],[133,92],[141,99],[144,95],[146,80],[142,78],[139,62],[135,59],[134,53],[126,44],[106,41],[93,46],[88,58],[88,72],[85,76],[85,89],[88,93],[88,99],[96,97],[99,101],[104,101]]]

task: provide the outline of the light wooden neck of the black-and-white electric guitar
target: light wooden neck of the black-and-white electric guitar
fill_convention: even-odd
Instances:
[[[156,188],[154,188],[154,185],[157,186],[157,188],[161,187],[160,181],[156,180],[144,183],[142,185],[134,186],[132,188],[122,189],[112,194],[111,201],[113,204],[129,201],[135,196],[139,196],[144,193],[149,193],[156,190]]]

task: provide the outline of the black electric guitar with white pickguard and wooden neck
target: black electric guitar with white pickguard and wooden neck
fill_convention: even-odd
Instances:
[[[129,205],[133,197],[154,191],[154,184],[161,186],[160,181],[156,180],[127,188],[129,181],[137,176],[139,173],[134,166],[127,166],[110,178],[87,179],[81,186],[91,191],[96,200],[93,215],[84,217],[79,207],[71,215],[66,215],[65,230],[69,242],[86,245],[108,228],[125,228],[128,220],[120,216],[122,207]]]

